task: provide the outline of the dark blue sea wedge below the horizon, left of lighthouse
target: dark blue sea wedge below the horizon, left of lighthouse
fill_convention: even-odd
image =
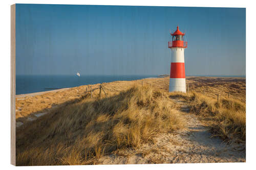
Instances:
[[[49,91],[60,88],[76,87],[88,84],[108,83],[114,81],[131,81],[145,78],[157,78],[158,75],[125,76],[83,76],[76,75],[16,75],[16,94]]]

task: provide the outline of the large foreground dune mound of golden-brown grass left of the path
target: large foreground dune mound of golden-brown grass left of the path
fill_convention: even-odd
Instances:
[[[182,128],[173,108],[168,93],[147,86],[83,98],[17,129],[16,164],[95,164],[102,155],[139,148],[156,133]]]

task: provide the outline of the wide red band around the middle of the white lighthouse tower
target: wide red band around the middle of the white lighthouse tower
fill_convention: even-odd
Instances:
[[[170,63],[170,78],[185,78],[185,64]]]

